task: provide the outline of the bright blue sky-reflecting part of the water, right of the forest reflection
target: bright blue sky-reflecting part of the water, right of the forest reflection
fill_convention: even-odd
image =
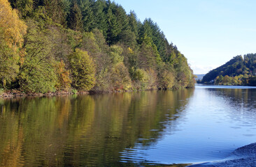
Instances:
[[[255,89],[197,87],[175,120],[164,122],[157,143],[129,154],[159,164],[217,161],[255,143]],[[180,111],[180,112],[179,112]],[[169,131],[171,129],[171,131]]]

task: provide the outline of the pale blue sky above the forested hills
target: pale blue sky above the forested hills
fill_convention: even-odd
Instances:
[[[256,53],[255,0],[115,0],[151,18],[194,70],[206,74],[237,55]]]

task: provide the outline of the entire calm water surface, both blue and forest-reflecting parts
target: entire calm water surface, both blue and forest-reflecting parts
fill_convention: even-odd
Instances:
[[[223,159],[256,142],[256,89],[0,99],[0,166],[139,166]]]

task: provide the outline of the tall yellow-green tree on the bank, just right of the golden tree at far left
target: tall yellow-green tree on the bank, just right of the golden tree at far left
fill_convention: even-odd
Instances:
[[[20,62],[20,89],[27,93],[54,92],[57,76],[54,67],[55,56],[52,52],[52,35],[48,29],[42,29],[34,20],[27,20],[27,25],[23,45],[26,53]]]

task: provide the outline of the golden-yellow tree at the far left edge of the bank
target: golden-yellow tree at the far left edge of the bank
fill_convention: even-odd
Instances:
[[[6,82],[17,76],[19,52],[27,26],[19,19],[17,11],[8,0],[0,0],[0,80]]]

